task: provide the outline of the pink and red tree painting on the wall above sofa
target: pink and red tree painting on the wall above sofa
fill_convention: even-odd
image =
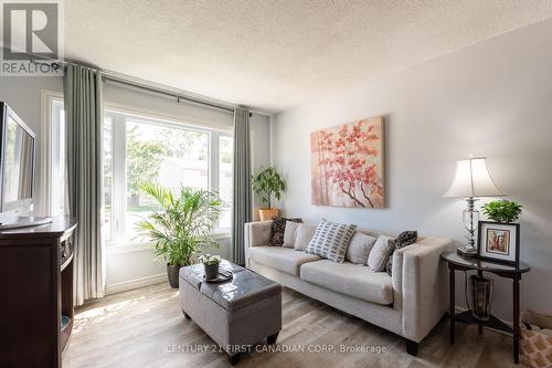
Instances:
[[[383,118],[310,134],[312,204],[383,208]]]

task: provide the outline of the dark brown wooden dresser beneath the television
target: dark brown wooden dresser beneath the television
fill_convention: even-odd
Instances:
[[[76,225],[57,217],[0,231],[0,367],[61,367],[73,328]]]

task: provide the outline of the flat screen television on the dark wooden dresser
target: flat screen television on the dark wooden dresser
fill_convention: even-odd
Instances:
[[[0,102],[0,213],[32,208],[34,138],[18,114]]]

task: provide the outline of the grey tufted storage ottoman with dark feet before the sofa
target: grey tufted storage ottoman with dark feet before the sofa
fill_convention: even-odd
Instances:
[[[267,338],[276,343],[282,329],[282,286],[259,274],[227,261],[220,271],[234,277],[221,284],[204,282],[203,265],[180,269],[179,303],[184,316],[192,318],[236,364],[245,346]]]

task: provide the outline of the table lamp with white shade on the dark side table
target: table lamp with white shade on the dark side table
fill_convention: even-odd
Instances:
[[[468,208],[463,214],[464,227],[468,231],[468,235],[466,235],[468,245],[458,249],[460,254],[475,255],[477,253],[475,233],[479,221],[479,211],[474,208],[476,200],[480,197],[498,196],[505,196],[505,193],[492,181],[485,157],[469,158],[456,164],[453,183],[443,197],[464,198],[468,202]]]

